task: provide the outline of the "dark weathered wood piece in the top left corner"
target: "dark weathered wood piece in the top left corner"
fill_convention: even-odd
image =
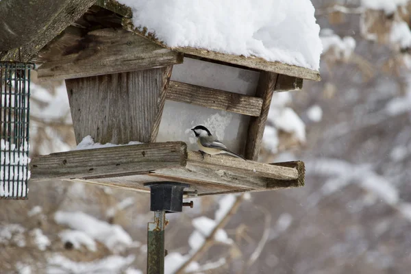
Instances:
[[[0,60],[27,62],[95,0],[16,0],[0,5]],[[5,25],[7,22],[7,25]],[[18,51],[20,47],[20,54]]]

